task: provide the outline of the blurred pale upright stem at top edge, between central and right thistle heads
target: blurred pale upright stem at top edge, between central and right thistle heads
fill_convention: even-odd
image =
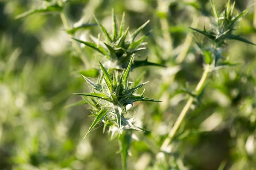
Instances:
[[[158,3],[158,8],[160,11],[166,12],[165,8],[165,4],[163,2],[163,0],[157,0]],[[163,31],[163,38],[167,43],[167,49],[169,54],[171,54],[171,52],[173,51],[172,48],[172,37],[169,33],[169,26],[168,26],[168,21],[166,17],[160,17],[160,25]]]

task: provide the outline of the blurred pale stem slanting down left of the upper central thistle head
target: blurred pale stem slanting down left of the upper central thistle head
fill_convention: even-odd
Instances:
[[[70,28],[70,25],[67,21],[67,17],[63,11],[60,12],[60,16],[61,16],[61,20],[62,20],[62,23],[63,23],[65,29]],[[74,37],[73,34],[70,34],[70,38],[73,38],[73,37]],[[84,63],[84,66],[86,68],[89,68],[89,62],[87,60],[87,57],[85,56],[84,52],[81,50],[78,42],[76,42],[76,40],[72,39],[72,44],[73,44],[74,48],[76,49],[76,51],[80,54],[79,56],[80,56],[82,62]]]

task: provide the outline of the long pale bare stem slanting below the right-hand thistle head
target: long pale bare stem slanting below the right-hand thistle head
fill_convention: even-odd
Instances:
[[[207,65],[205,67],[205,70],[204,70],[204,73],[201,77],[200,82],[198,83],[198,85],[195,88],[196,93],[199,93],[202,90],[204,82],[206,81],[209,72],[210,72],[210,65]],[[190,96],[186,105],[184,106],[183,110],[181,111],[180,116],[178,117],[174,126],[172,127],[168,137],[163,142],[163,144],[160,148],[161,150],[164,150],[169,145],[169,143],[172,141],[172,138],[175,135],[175,133],[177,132],[178,128],[180,127],[180,124],[183,121],[184,117],[186,116],[186,113],[189,111],[189,108],[191,107],[191,105],[193,103],[193,100],[194,100],[194,97]]]

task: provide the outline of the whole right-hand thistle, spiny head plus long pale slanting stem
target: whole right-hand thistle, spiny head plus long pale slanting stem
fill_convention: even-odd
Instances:
[[[186,113],[188,113],[192,103],[194,102],[194,99],[199,96],[204,88],[204,84],[207,80],[207,77],[209,73],[212,70],[217,70],[218,68],[218,59],[224,59],[222,57],[222,53],[225,51],[224,45],[226,45],[226,40],[238,40],[242,42],[246,42],[248,44],[255,45],[254,43],[240,37],[239,35],[234,35],[233,31],[235,30],[235,26],[238,23],[238,21],[243,17],[247,12],[250,10],[252,6],[242,11],[240,14],[237,14],[234,16],[234,8],[235,8],[235,2],[233,5],[230,4],[230,0],[228,0],[225,9],[223,12],[218,13],[214,0],[211,0],[212,4],[212,10],[214,13],[215,20],[212,21],[211,27],[209,31],[206,30],[204,27],[204,30],[201,31],[196,28],[191,28],[192,30],[203,34],[207,38],[211,40],[211,44],[206,45],[202,44],[195,40],[196,44],[201,48],[204,54],[204,73],[198,82],[198,85],[195,88],[194,92],[190,92],[190,94],[193,94],[189,97],[186,105],[184,106],[183,110],[181,111],[177,121],[175,122],[174,126],[172,127],[171,131],[169,132],[168,137],[163,142],[161,149],[165,150],[166,147],[170,144],[173,137],[175,136],[178,128],[181,125],[181,122],[183,121],[184,117],[186,116]],[[230,66],[229,62],[223,62],[221,63],[221,68],[223,66]],[[194,95],[195,94],[195,95]]]

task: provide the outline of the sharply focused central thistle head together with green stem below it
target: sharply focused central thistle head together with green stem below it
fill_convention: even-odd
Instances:
[[[91,81],[89,78],[84,77],[88,85],[93,88],[92,93],[76,93],[81,96],[88,96],[93,99],[84,99],[86,103],[90,104],[93,108],[93,116],[95,119],[90,126],[85,137],[93,130],[93,128],[99,123],[103,122],[104,131],[106,127],[109,128],[109,132],[112,131],[112,136],[116,133],[116,129],[119,130],[118,136],[120,141],[120,153],[122,156],[122,168],[126,168],[126,159],[128,156],[128,149],[131,142],[131,132],[123,133],[123,130],[137,130],[144,131],[140,127],[133,125],[133,118],[125,118],[126,106],[137,101],[146,102],[160,102],[158,100],[147,98],[142,94],[135,94],[137,90],[142,88],[147,82],[139,85],[138,82],[128,82],[129,74],[131,71],[131,64],[133,56],[130,59],[128,67],[122,72],[122,74],[110,75],[104,66],[99,62],[103,75],[99,77],[97,82]],[[80,101],[79,105],[83,105],[84,101]],[[75,104],[76,105],[76,104]],[[117,128],[115,128],[117,127]]]

